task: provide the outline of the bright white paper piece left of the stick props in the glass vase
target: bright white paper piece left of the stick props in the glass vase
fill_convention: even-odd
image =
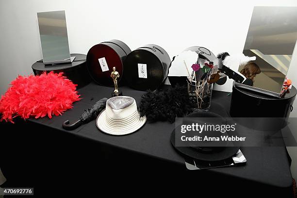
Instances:
[[[189,76],[189,73],[191,74],[193,71],[191,66],[196,64],[197,60],[198,53],[195,51],[183,51],[172,61],[168,76]],[[186,63],[188,71],[184,62]]]

